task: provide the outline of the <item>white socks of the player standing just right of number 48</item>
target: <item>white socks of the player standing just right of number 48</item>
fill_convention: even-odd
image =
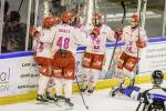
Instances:
[[[83,88],[87,87],[90,83],[89,89],[93,90],[93,88],[96,84],[98,73],[100,73],[100,70],[83,68]]]

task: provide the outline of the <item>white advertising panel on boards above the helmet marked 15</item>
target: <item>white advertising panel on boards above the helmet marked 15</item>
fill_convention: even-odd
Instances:
[[[148,74],[154,70],[166,70],[166,41],[153,42],[143,51],[139,61],[139,74]]]

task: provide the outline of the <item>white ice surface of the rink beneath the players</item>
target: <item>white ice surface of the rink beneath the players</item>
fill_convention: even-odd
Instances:
[[[141,84],[143,89],[152,88],[151,83]],[[166,88],[166,82],[163,83]],[[103,91],[96,91],[92,95],[84,94],[89,111],[135,111],[138,101],[134,101],[129,98],[111,98],[108,97],[110,89]],[[74,108],[71,111],[86,111],[83,105],[81,95],[74,94],[72,98]],[[1,105],[0,111],[64,111],[54,104],[35,104],[35,101]]]

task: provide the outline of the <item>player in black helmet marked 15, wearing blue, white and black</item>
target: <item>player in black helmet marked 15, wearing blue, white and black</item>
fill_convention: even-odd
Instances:
[[[152,89],[141,91],[139,87],[122,88],[120,93],[139,101],[136,111],[165,111],[166,89],[160,87],[163,80],[164,73],[160,70],[155,70],[152,73]]]

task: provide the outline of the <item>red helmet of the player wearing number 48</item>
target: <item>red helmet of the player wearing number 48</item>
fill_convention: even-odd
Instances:
[[[62,22],[69,23],[73,17],[74,17],[73,13],[65,11],[61,14],[61,20],[62,20]]]

